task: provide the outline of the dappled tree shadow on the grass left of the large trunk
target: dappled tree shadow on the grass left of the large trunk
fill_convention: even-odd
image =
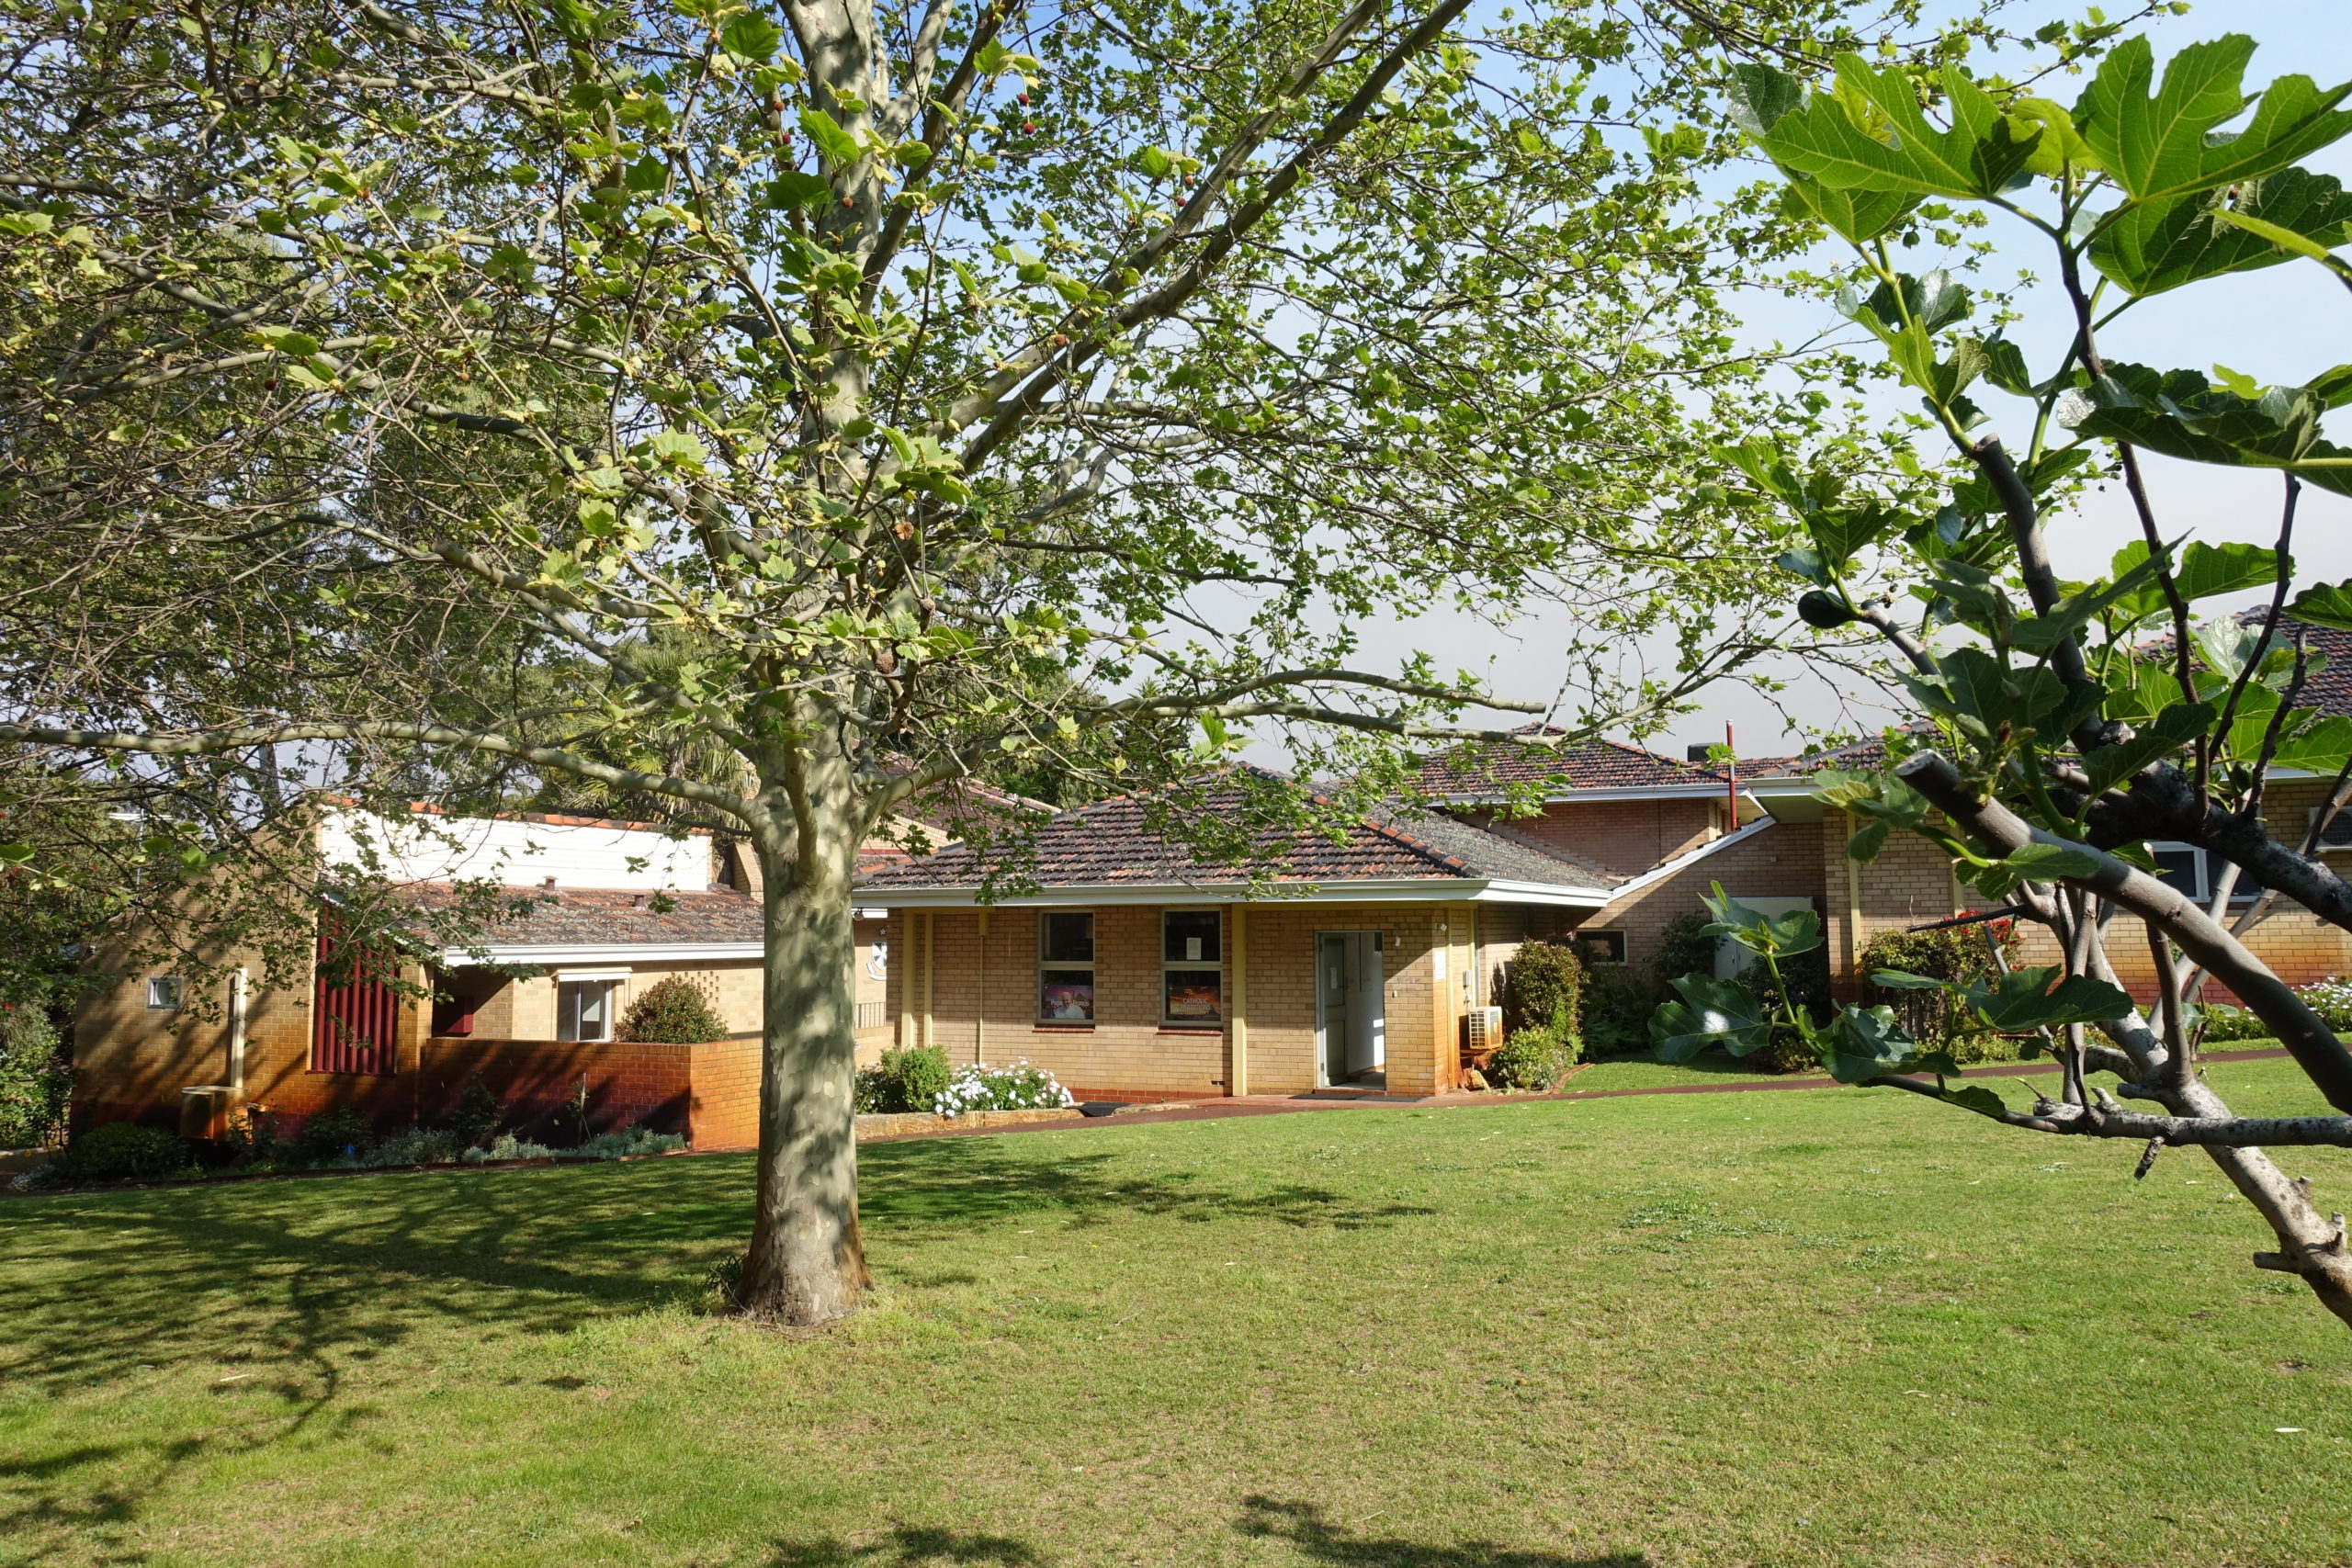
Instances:
[[[12,1199],[0,1378],[191,1359],[315,1392],[430,1324],[562,1333],[680,1295],[741,1246],[746,1161],[449,1171]],[[553,1178],[553,1180],[550,1180]]]

